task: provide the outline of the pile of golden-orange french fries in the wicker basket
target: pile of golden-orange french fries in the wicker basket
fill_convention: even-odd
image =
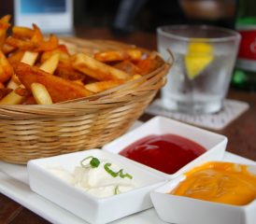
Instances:
[[[46,38],[36,24],[11,27],[9,20],[9,15],[0,20],[0,105],[51,105],[87,97],[156,66],[153,53],[137,48],[70,54],[56,35]]]

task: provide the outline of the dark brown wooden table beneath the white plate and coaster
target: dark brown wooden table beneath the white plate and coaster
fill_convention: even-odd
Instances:
[[[135,44],[137,46],[156,49],[156,37],[154,34],[135,33],[126,36],[113,36],[107,29],[77,28],[76,35],[82,38],[105,38]],[[256,92],[230,90],[229,99],[240,100],[249,103],[249,110],[235,119],[229,126],[220,132],[228,137],[227,151],[239,156],[256,161]],[[141,120],[149,119],[149,115],[143,115]],[[0,194],[0,223],[49,223],[42,217],[36,216],[33,212],[16,203],[5,195]]]

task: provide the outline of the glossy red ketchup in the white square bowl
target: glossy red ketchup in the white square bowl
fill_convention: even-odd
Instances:
[[[120,155],[172,175],[206,152],[206,148],[176,134],[149,135],[121,150]]]

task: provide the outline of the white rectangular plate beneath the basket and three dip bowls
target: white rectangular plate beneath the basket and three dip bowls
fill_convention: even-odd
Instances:
[[[246,164],[256,164],[255,161],[236,156],[225,152],[224,161],[234,161]],[[24,165],[14,165],[0,161],[0,192],[7,197],[21,203],[24,207],[35,212],[38,216],[44,217],[51,223],[60,224],[85,224],[84,220],[64,210],[47,199],[37,195],[28,185],[27,169]],[[137,213],[129,217],[123,217],[112,224],[163,224],[157,217],[153,208]]]

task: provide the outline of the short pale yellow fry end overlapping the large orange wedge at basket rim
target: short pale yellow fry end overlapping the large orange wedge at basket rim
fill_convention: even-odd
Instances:
[[[31,84],[31,91],[37,105],[52,105],[50,94],[44,85],[34,82]]]

